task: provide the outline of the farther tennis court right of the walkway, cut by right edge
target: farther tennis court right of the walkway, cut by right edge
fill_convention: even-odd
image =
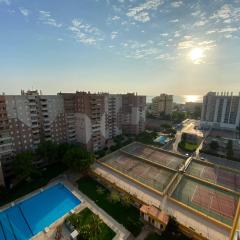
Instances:
[[[192,161],[187,169],[187,173],[231,190],[240,191],[240,173],[237,171]]]

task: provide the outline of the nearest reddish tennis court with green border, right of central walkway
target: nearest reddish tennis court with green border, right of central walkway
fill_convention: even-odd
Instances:
[[[232,225],[239,197],[184,176],[172,197],[216,220]]]

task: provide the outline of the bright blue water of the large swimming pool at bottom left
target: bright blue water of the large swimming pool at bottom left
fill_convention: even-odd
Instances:
[[[0,212],[0,240],[26,240],[61,218],[81,201],[57,184]]]

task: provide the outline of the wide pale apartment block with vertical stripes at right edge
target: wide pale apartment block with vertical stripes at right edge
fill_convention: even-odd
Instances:
[[[240,94],[209,92],[203,97],[201,126],[235,130],[240,124]]]

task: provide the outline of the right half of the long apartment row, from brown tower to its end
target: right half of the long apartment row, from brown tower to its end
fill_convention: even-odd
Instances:
[[[60,93],[64,99],[69,142],[98,151],[106,140],[145,129],[146,97],[108,93]]]

